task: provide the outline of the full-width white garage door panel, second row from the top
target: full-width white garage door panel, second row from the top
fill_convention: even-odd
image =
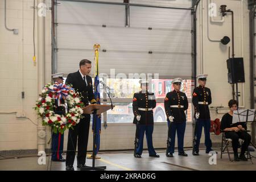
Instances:
[[[100,43],[107,51],[153,51],[191,53],[190,31],[138,30],[60,24],[58,47],[92,49]]]

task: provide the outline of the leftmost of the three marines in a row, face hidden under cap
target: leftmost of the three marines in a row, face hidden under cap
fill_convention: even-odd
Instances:
[[[143,138],[146,132],[147,148],[149,156],[159,158],[156,154],[152,143],[152,133],[154,130],[154,117],[153,109],[156,106],[156,100],[154,93],[147,91],[148,80],[141,80],[141,92],[137,92],[133,96],[133,123],[137,126],[136,137],[138,139],[137,144],[135,142],[135,158],[141,158],[143,151]]]

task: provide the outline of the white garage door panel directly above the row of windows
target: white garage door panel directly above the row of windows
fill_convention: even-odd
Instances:
[[[69,73],[79,69],[81,59],[93,60],[93,51],[59,50],[58,71]],[[124,52],[100,52],[100,73],[110,75],[110,69],[115,69],[115,74],[126,73],[160,73],[160,77],[172,78],[181,76],[189,78],[191,75],[191,64],[188,60],[191,55],[168,55],[148,53],[124,53]],[[125,63],[125,65],[123,64]],[[92,65],[94,67],[94,63]],[[183,71],[180,71],[180,68]],[[127,72],[129,70],[129,72]],[[92,75],[94,70],[92,70]]]

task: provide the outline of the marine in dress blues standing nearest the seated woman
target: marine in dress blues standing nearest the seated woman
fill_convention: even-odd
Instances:
[[[193,139],[193,155],[199,155],[200,138],[204,127],[205,135],[205,152],[208,154],[212,150],[212,140],[210,140],[210,111],[209,105],[212,104],[212,94],[210,89],[205,87],[207,76],[205,74],[198,75],[199,86],[193,90],[192,102],[195,108],[195,136]]]

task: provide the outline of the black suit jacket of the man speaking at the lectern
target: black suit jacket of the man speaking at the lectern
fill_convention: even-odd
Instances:
[[[88,85],[86,85],[84,79],[82,79],[80,72],[77,71],[68,74],[65,84],[71,85],[76,92],[80,92],[82,94],[82,102],[84,102],[85,106],[88,106],[89,102],[90,104],[96,104],[96,100],[93,94],[92,77],[86,76],[86,80]]]

